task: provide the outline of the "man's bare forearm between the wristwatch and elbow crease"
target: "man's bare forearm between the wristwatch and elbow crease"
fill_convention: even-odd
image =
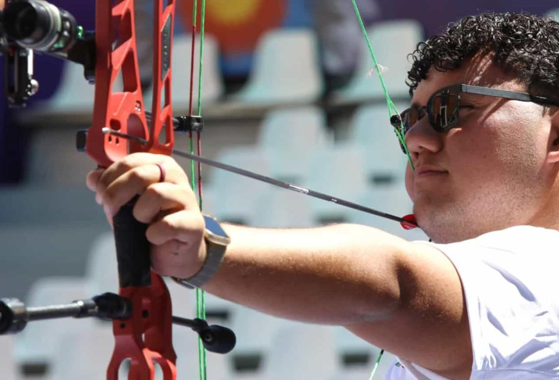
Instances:
[[[269,314],[321,324],[382,318],[400,297],[397,256],[409,244],[358,225],[254,229],[224,225],[231,244],[203,288]]]

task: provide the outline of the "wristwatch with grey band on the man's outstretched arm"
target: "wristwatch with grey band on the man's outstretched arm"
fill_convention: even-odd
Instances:
[[[202,216],[206,223],[206,230],[204,232],[206,259],[202,264],[202,268],[188,278],[173,277],[175,282],[190,289],[199,288],[214,277],[219,267],[221,267],[223,257],[225,256],[225,250],[231,242],[231,239],[221,228],[217,219],[210,215]]]

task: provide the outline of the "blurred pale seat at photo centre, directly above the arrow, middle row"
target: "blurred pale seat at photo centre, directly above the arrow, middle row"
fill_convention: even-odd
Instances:
[[[269,112],[260,126],[257,144],[264,150],[274,178],[300,182],[312,151],[328,140],[324,112],[309,106]]]

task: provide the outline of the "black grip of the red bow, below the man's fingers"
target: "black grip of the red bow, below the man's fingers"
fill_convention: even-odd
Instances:
[[[137,200],[138,196],[132,198],[113,217],[120,287],[151,285],[148,225],[132,215]]]

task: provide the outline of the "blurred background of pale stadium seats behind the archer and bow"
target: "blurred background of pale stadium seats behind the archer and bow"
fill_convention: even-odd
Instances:
[[[177,1],[173,108],[184,115],[192,1]],[[86,30],[93,28],[93,1],[55,4]],[[482,11],[553,16],[556,7],[552,0],[358,4],[400,111],[409,102],[407,55],[419,41]],[[151,7],[151,1],[136,0],[146,104]],[[411,213],[403,185],[406,159],[349,0],[209,0],[204,44],[203,155],[395,215]],[[35,74],[40,91],[25,109],[8,108],[0,93],[0,297],[18,297],[28,306],[117,290],[111,230],[84,184],[94,164],[75,150],[75,132],[91,123],[93,87],[79,65],[50,56],[36,56]],[[3,76],[0,82],[3,88]],[[187,146],[187,137],[177,136],[176,147]],[[408,240],[427,239],[395,222],[219,170],[203,168],[203,182],[204,210],[224,221],[262,227],[355,222]],[[192,317],[193,292],[169,286],[173,314]],[[281,320],[212,296],[207,313],[233,327],[238,339],[233,353],[209,355],[210,379],[365,379],[379,352],[340,327]],[[195,334],[181,327],[173,334],[178,378],[197,378]],[[0,338],[0,378],[103,378],[112,344],[110,326],[102,322],[35,322],[18,336]],[[392,362],[387,356],[375,378]]]

